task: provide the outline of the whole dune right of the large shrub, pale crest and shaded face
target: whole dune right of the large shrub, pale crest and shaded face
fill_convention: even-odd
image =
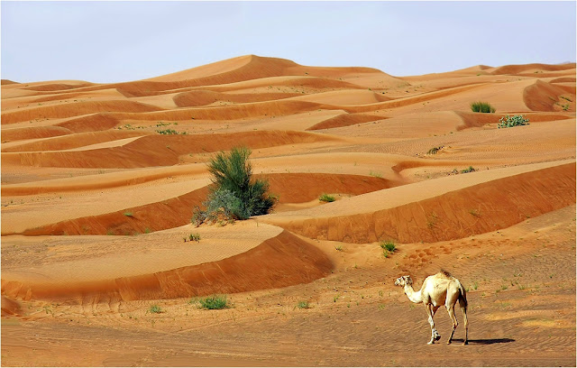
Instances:
[[[548,166],[447,177],[436,179],[443,184],[435,186],[434,181],[425,181],[263,220],[309,238],[345,243],[453,240],[495,231],[574,203],[574,162]]]

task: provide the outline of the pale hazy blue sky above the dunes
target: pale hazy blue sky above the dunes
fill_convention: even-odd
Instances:
[[[255,54],[394,76],[575,61],[569,2],[2,1],[2,78],[122,82]]]

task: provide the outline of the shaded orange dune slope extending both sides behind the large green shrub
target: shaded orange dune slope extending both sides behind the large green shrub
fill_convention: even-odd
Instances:
[[[360,195],[399,185],[382,178],[320,173],[267,174],[256,178],[269,180],[270,192],[279,196],[279,204],[308,202],[325,192]],[[41,226],[26,230],[23,235],[134,235],[187,225],[195,207],[203,207],[208,190],[206,187],[157,203]]]

